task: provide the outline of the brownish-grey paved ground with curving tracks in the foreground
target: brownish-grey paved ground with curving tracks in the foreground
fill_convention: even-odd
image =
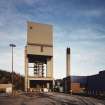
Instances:
[[[0,105],[105,105],[105,100],[63,93],[0,96]]]

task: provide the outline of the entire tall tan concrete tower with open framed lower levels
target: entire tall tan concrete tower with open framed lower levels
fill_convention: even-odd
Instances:
[[[25,47],[25,91],[51,91],[52,88],[52,26],[28,22]]]

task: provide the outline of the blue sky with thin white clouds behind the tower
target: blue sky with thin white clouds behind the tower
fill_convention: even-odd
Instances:
[[[105,69],[105,0],[0,0],[0,69],[11,71],[15,43],[14,70],[24,74],[27,21],[53,25],[55,78],[66,75],[67,47],[72,75]]]

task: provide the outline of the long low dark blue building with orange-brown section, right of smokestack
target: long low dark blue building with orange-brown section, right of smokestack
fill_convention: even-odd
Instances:
[[[73,93],[87,93],[89,95],[104,95],[105,94],[105,70],[99,74],[90,76],[70,76],[64,79],[71,78],[71,86]],[[68,79],[70,80],[70,79]],[[65,87],[65,84],[62,86]]]

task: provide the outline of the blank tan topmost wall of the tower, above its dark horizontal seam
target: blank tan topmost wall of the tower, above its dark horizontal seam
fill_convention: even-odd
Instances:
[[[27,43],[53,45],[52,26],[28,22]]]

